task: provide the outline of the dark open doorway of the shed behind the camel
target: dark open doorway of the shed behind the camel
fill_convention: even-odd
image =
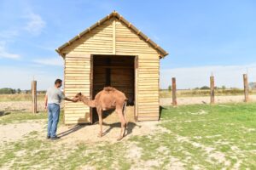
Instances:
[[[104,87],[111,86],[123,92],[128,99],[125,110],[127,122],[135,119],[135,56],[93,55],[92,56],[92,99]],[[119,122],[113,111],[104,111],[103,122]],[[96,109],[92,110],[92,122],[98,122]]]

